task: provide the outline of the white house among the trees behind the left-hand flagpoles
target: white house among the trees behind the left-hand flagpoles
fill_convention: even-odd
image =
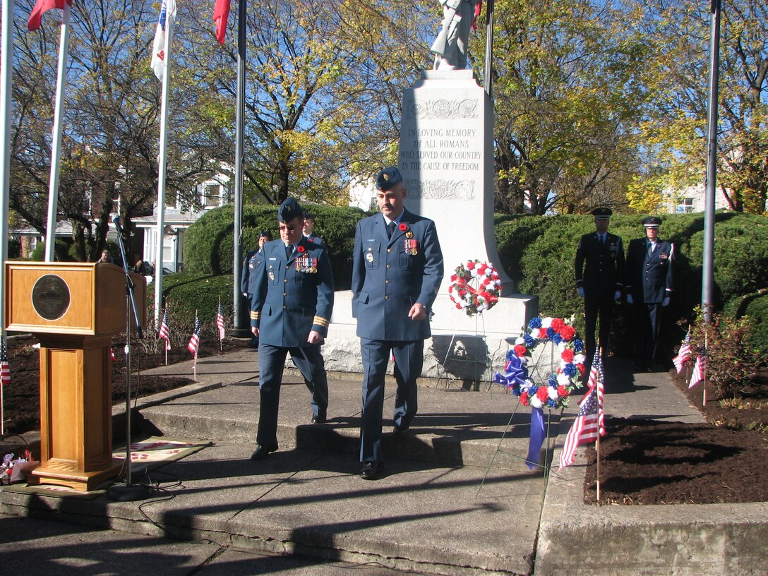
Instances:
[[[211,208],[232,203],[230,176],[219,174],[195,187],[200,208],[184,207],[178,197],[166,197],[164,234],[163,234],[163,268],[169,272],[180,272],[184,269],[184,232],[195,221]],[[144,261],[152,263],[158,260],[157,250],[157,203],[154,204],[152,216],[136,218],[134,224],[144,231]]]

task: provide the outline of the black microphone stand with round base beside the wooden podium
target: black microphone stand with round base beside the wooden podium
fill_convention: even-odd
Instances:
[[[107,490],[107,498],[119,502],[133,502],[149,498],[152,495],[152,490],[147,485],[134,484],[131,478],[131,310],[133,310],[134,322],[136,323],[137,338],[141,339],[144,335],[141,332],[141,321],[136,307],[134,281],[128,270],[120,218],[115,216],[112,222],[118,231],[118,245],[125,273],[125,483],[112,485]]]

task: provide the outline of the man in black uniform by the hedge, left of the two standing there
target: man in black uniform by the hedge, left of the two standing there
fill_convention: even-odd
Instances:
[[[611,214],[611,208],[592,210],[595,231],[584,234],[576,249],[576,289],[578,295],[584,298],[584,344],[588,368],[594,359],[594,329],[598,316],[603,360],[607,357],[614,303],[621,298],[624,289],[624,247],[621,237],[608,233]]]

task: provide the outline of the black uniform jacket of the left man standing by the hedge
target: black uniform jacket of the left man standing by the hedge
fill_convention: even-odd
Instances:
[[[576,286],[585,293],[613,294],[624,290],[624,246],[621,237],[607,233],[605,243],[598,233],[584,234],[576,249]]]

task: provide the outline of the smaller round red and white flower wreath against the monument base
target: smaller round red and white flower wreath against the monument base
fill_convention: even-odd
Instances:
[[[458,310],[473,316],[491,310],[498,302],[502,295],[502,281],[487,262],[468,260],[456,266],[448,293]]]

